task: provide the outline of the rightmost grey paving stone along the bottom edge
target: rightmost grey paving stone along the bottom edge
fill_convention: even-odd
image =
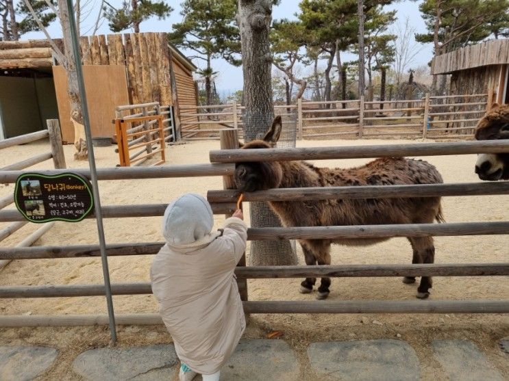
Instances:
[[[500,373],[472,341],[434,340],[432,347],[435,359],[442,365],[449,380],[502,381]]]

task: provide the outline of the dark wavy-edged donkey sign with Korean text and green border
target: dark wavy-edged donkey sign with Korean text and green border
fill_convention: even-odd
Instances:
[[[92,185],[75,173],[25,173],[16,180],[16,207],[30,222],[83,220],[94,207]]]

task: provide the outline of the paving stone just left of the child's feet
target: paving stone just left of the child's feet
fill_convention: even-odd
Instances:
[[[171,380],[178,361],[173,344],[101,348],[79,354],[73,371],[86,380]]]

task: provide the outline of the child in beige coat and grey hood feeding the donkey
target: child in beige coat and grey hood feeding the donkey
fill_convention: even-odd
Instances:
[[[151,283],[162,321],[182,363],[181,381],[219,380],[245,330],[234,269],[246,248],[247,226],[236,210],[223,232],[212,232],[207,200],[184,194],[164,212],[164,245],[153,260]]]

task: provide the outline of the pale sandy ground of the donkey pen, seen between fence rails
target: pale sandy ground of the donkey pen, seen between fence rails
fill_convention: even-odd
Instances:
[[[368,145],[409,142],[404,140],[364,141],[301,141],[297,146]],[[415,141],[412,141],[415,142]],[[166,165],[207,163],[208,151],[219,148],[219,142],[193,142],[166,148]],[[32,157],[48,150],[47,142],[36,142],[2,150],[0,168],[18,159]],[[73,147],[64,147],[69,168],[83,168],[87,162],[72,159]],[[98,167],[112,167],[118,163],[114,146],[95,148]],[[475,155],[427,157],[443,174],[445,183],[479,181],[473,172]],[[366,162],[367,159],[317,161],[318,166],[347,167]],[[46,161],[34,169],[51,168]],[[149,179],[101,181],[102,205],[131,205],[169,202],[185,192],[206,196],[208,189],[221,189],[220,177],[188,179]],[[0,185],[0,197],[14,191],[13,185]],[[245,204],[247,205],[247,204]],[[447,222],[504,221],[509,220],[509,196],[447,197],[443,209]],[[247,213],[246,213],[247,214]],[[223,216],[216,216],[219,227]],[[7,226],[0,223],[0,229]],[[161,241],[160,218],[105,219],[107,243]],[[14,246],[22,237],[36,229],[28,224],[0,246]],[[79,224],[57,222],[37,244],[73,245],[97,244],[95,220]],[[491,263],[504,262],[508,254],[507,235],[472,237],[437,237],[436,263]],[[247,253],[249,255],[249,251]],[[303,263],[299,250],[299,260]],[[409,263],[411,249],[403,238],[391,239],[383,244],[365,248],[333,246],[332,263]],[[149,280],[151,256],[114,257],[109,259],[112,283]],[[0,271],[2,285],[70,285],[99,284],[102,270],[99,259],[47,259],[13,261]],[[314,295],[297,292],[301,279],[249,280],[250,300],[314,300]],[[335,278],[332,280],[330,300],[414,300],[417,286],[404,285],[398,278]],[[432,300],[506,299],[509,295],[508,277],[436,277]],[[156,302],[152,295],[126,295],[114,297],[116,313],[155,313]],[[29,314],[88,314],[106,313],[105,299],[52,298],[3,299],[1,315]],[[375,323],[373,323],[375,321]],[[304,356],[312,341],[380,339],[401,337],[417,351],[424,380],[445,379],[443,371],[430,353],[433,339],[470,339],[480,347],[491,362],[509,379],[508,355],[499,350],[497,341],[509,335],[508,315],[468,314],[375,314],[375,315],[251,315],[245,338],[262,338],[271,330],[281,330],[280,339],[295,349],[300,360],[301,379],[312,379],[308,360]],[[73,358],[92,347],[109,344],[105,327],[83,328],[2,328],[0,345],[51,345],[61,350],[55,365],[41,380],[76,379],[71,373]],[[161,326],[121,326],[119,345],[168,343],[171,337]]]

